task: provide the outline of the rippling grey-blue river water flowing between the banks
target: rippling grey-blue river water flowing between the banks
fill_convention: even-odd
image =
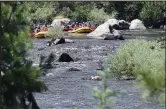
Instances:
[[[98,81],[82,80],[82,77],[96,75],[101,69],[101,64],[108,55],[113,55],[120,44],[130,39],[155,40],[159,36],[165,36],[164,30],[149,29],[146,31],[121,31],[126,40],[98,40],[89,39],[84,35],[67,34],[74,43],[66,43],[46,46],[50,39],[33,40],[34,47],[28,52],[29,59],[34,64],[39,64],[40,55],[48,56],[53,52],[58,58],[62,53],[68,53],[75,62],[54,61],[54,67],[45,70],[52,73],[51,76],[41,76],[41,80],[48,86],[48,91],[35,93],[36,101],[41,109],[96,109],[98,103],[92,97],[93,87],[102,88]],[[41,49],[44,48],[44,49]],[[77,68],[80,71],[70,71]],[[111,90],[119,91],[112,109],[164,109],[165,105],[143,101],[141,99],[142,89],[136,86],[134,80],[108,80]]]

